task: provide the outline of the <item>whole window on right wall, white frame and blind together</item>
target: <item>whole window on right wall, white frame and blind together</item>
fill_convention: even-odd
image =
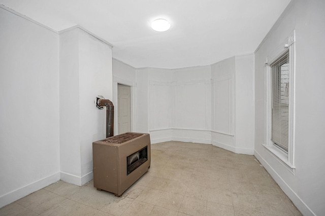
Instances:
[[[264,147],[295,174],[295,31],[266,60]]]

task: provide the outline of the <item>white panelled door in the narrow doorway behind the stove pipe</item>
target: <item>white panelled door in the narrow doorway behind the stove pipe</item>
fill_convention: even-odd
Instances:
[[[117,85],[118,134],[131,131],[131,87]]]

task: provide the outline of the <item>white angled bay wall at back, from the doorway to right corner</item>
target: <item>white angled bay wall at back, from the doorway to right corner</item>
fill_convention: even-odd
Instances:
[[[135,131],[150,133],[152,143],[212,143],[252,155],[253,62],[254,55],[249,54],[207,66],[136,69]],[[133,73],[122,62],[117,64],[114,76]]]

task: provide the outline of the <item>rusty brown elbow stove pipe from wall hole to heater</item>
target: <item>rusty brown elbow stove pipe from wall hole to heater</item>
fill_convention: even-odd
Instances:
[[[114,105],[112,101],[99,95],[94,102],[99,110],[103,110],[106,106],[106,138],[114,136]]]

